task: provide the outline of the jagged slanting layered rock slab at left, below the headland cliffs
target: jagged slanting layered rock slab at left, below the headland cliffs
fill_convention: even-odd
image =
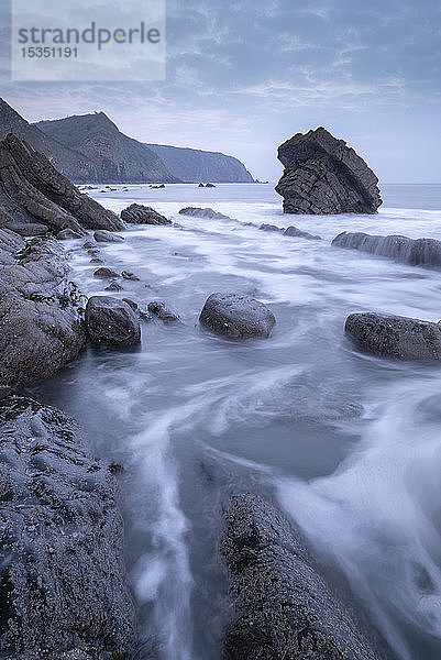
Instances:
[[[55,232],[122,228],[112,211],[81,194],[46,156],[12,133],[0,142],[0,208],[14,223],[37,221]]]

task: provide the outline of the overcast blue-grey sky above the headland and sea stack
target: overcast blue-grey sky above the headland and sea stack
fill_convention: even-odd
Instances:
[[[166,81],[101,84],[10,82],[0,2],[1,96],[30,121],[103,110],[271,180],[278,144],[324,125],[383,182],[441,183],[439,0],[168,0]]]

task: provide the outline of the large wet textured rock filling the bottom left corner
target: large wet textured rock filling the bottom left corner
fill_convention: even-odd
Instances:
[[[135,616],[114,477],[73,419],[25,396],[3,393],[0,433],[2,654],[129,657]]]

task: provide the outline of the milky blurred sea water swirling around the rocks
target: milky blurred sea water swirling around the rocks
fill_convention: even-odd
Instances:
[[[220,657],[228,619],[217,558],[231,490],[269,491],[404,660],[441,656],[440,366],[363,355],[346,316],[441,318],[440,273],[330,246],[343,230],[441,239],[441,186],[384,186],[375,216],[284,216],[272,186],[121,186],[180,227],[132,227],[102,246],[133,271],[112,294],[164,300],[184,324],[144,323],[140,349],[89,350],[36,394],[75,415],[98,453],[121,463],[128,564],[145,630],[163,660]],[[212,207],[232,220],[179,216]],[[263,232],[263,222],[322,241]],[[68,243],[74,277],[103,293],[96,264]],[[266,341],[229,342],[198,326],[208,295],[268,304]]]

